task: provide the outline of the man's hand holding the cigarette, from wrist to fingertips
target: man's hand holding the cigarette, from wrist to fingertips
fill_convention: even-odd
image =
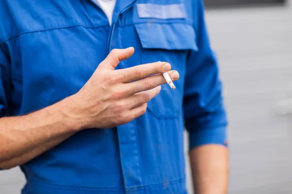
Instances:
[[[160,92],[160,85],[166,83],[162,73],[169,71],[174,81],[179,78],[178,72],[170,71],[171,66],[165,62],[114,70],[133,52],[133,48],[113,49],[75,95],[76,106],[80,107],[77,115],[86,121],[83,128],[112,128],[128,123],[144,114],[147,101]]]

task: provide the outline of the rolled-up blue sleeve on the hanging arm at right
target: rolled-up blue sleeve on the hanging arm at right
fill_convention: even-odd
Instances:
[[[194,0],[198,51],[190,51],[184,83],[183,111],[189,148],[204,144],[227,146],[227,119],[216,57],[209,44],[202,0]]]

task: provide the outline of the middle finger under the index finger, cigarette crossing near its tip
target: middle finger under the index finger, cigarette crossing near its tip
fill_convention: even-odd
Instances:
[[[170,76],[172,81],[176,81],[179,79],[180,75],[177,71],[169,71],[167,72],[168,75]],[[154,75],[154,76],[149,76],[147,78],[138,80],[138,81],[133,81],[130,83],[124,84],[125,90],[129,95],[136,94],[138,92],[143,92],[146,90],[151,90],[159,85],[162,85],[166,83],[164,77],[162,74],[159,75]]]

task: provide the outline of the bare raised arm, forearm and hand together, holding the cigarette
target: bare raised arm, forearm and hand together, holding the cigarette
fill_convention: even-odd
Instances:
[[[0,118],[0,168],[28,162],[81,129],[111,128],[144,114],[147,101],[166,83],[161,73],[171,67],[160,62],[114,70],[133,52],[133,48],[112,50],[71,97],[35,113]],[[173,80],[179,78],[176,71],[169,74]]]

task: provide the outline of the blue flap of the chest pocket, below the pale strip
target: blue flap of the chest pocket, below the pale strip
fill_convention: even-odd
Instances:
[[[140,23],[136,31],[144,49],[198,50],[194,28],[186,23]]]

